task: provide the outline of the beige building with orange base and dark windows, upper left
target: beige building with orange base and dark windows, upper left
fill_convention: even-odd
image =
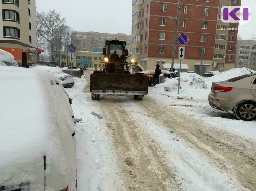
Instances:
[[[2,0],[0,49],[12,53],[19,66],[36,62],[36,1]]]

